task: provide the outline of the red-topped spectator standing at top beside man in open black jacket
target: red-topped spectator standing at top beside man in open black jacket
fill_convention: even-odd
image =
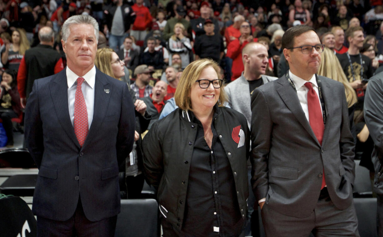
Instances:
[[[133,35],[136,40],[145,39],[147,34],[146,30],[152,23],[149,8],[142,5],[143,2],[144,0],[136,0],[136,3],[132,6],[133,11],[136,13],[136,20],[133,23],[130,34]]]

